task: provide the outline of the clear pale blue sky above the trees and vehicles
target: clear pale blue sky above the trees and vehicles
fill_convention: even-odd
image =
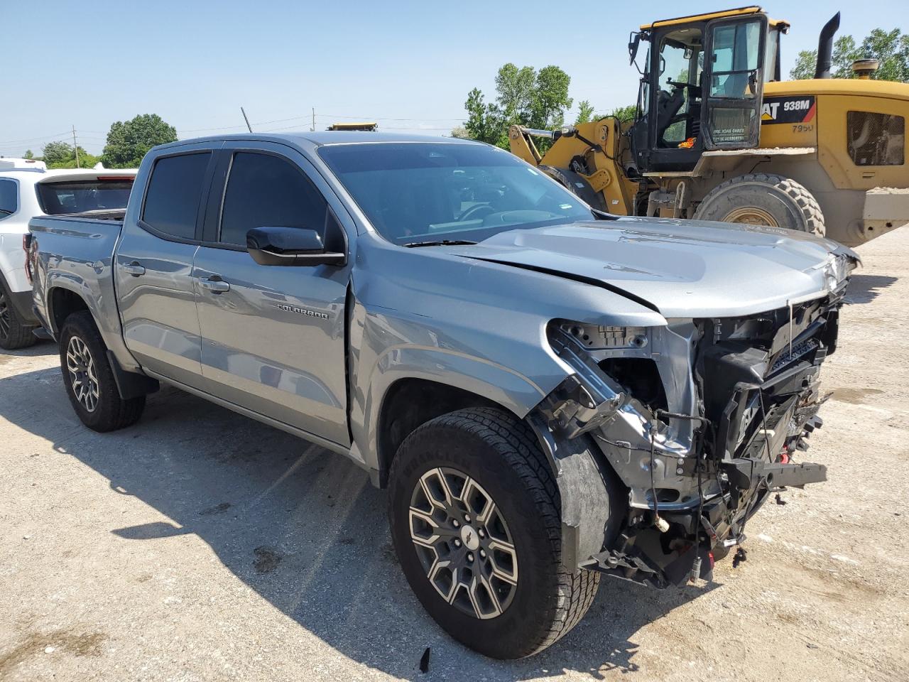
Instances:
[[[909,33],[906,0],[843,4],[840,35]],[[473,87],[494,97],[494,76],[513,62],[557,65],[577,103],[597,113],[633,104],[637,72],[629,33],[677,15],[740,6],[690,2],[308,3],[291,0],[0,0],[0,155],[46,142],[100,154],[115,121],[157,114],[180,138],[245,131],[308,130],[376,121],[382,130],[446,135],[464,120]],[[793,27],[783,73],[814,49],[837,10],[768,0]]]

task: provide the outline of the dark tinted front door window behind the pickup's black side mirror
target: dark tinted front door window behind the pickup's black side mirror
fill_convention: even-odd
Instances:
[[[309,227],[324,236],[327,203],[303,172],[284,158],[238,152],[221,214],[223,244],[246,246],[254,227]]]

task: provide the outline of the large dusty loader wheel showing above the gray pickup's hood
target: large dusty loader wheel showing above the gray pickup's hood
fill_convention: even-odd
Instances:
[[[715,186],[694,211],[694,217],[825,234],[824,213],[811,192],[791,178],[770,173],[738,176]]]

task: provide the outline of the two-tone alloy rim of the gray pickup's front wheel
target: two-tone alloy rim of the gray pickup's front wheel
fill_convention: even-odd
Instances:
[[[517,553],[482,486],[453,468],[430,469],[411,496],[409,527],[426,577],[445,601],[476,618],[502,615],[517,588]]]

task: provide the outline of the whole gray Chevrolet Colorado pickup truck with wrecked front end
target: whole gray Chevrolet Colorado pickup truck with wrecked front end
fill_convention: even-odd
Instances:
[[[27,245],[85,425],[166,382],[350,457],[486,655],[551,645],[604,574],[710,578],[825,478],[795,460],[857,263],[834,242],[616,218],[494,147],[375,133],[158,146],[105,217]]]

